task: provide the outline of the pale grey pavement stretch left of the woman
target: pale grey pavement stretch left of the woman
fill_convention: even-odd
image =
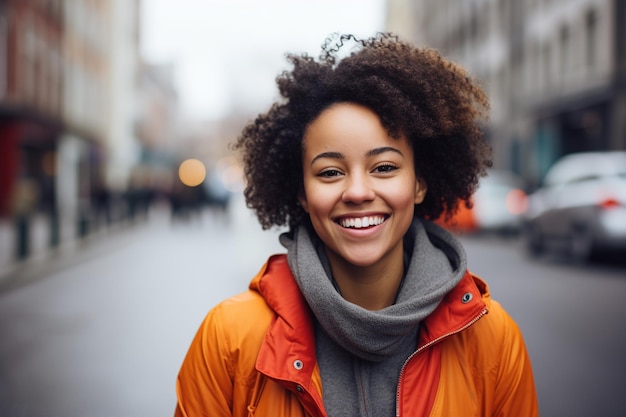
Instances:
[[[172,224],[157,209],[5,277],[0,416],[171,416],[200,321],[281,250],[241,205],[230,216]]]

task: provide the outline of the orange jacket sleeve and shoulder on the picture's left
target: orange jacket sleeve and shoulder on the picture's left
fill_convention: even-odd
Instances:
[[[233,305],[237,308],[231,308]],[[176,381],[175,416],[248,416],[250,393],[258,383],[258,348],[271,319],[272,312],[252,291],[228,299],[209,312]]]

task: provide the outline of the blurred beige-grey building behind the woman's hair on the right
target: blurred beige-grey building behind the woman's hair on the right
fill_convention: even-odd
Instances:
[[[531,183],[561,155],[626,148],[625,24],[622,0],[388,0],[388,30],[483,83],[495,164]]]

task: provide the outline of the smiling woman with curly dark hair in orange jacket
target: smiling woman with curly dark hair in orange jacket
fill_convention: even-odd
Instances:
[[[391,34],[288,59],[235,145],[287,253],[209,312],[175,414],[537,416],[519,328],[432,222],[491,164],[481,87]]]

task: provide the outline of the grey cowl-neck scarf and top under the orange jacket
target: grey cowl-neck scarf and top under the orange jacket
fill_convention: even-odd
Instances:
[[[396,302],[370,311],[339,294],[323,244],[306,227],[293,236],[281,235],[280,241],[317,320],[317,356],[329,415],[366,415],[365,409],[378,413],[371,415],[394,415],[395,382],[415,350],[419,324],[465,273],[460,243],[439,226],[415,219],[404,239],[408,267]]]

